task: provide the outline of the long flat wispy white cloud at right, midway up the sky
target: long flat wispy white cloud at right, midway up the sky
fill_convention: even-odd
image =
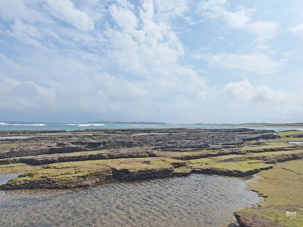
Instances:
[[[208,62],[210,65],[218,65],[236,70],[243,70],[257,75],[267,75],[279,72],[284,66],[283,61],[275,61],[267,54],[196,54],[193,56]]]

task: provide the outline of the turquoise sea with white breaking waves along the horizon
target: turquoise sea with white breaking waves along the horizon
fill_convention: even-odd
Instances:
[[[21,122],[21,121],[0,121],[0,130],[84,130],[84,129],[123,129],[123,128],[204,128],[204,129],[220,129],[234,127],[211,127],[197,125],[145,125],[145,124],[88,124],[88,123],[54,123],[54,122]],[[293,130],[295,128],[257,128],[251,129],[267,129],[275,131]],[[303,129],[297,129],[303,131]]]

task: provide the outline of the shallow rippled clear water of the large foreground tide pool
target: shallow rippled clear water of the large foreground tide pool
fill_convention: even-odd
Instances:
[[[0,184],[16,175],[0,175]],[[240,178],[191,174],[88,188],[0,191],[1,226],[215,226],[260,201]]]

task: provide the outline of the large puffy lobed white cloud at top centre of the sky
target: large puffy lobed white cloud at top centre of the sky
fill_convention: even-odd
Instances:
[[[104,38],[112,48],[108,57],[120,67],[145,77],[148,71],[176,64],[178,57],[184,55],[183,45],[169,23],[153,21],[155,12],[151,1],[143,2],[139,16],[116,5],[111,5],[109,9],[122,30],[108,28]]]

